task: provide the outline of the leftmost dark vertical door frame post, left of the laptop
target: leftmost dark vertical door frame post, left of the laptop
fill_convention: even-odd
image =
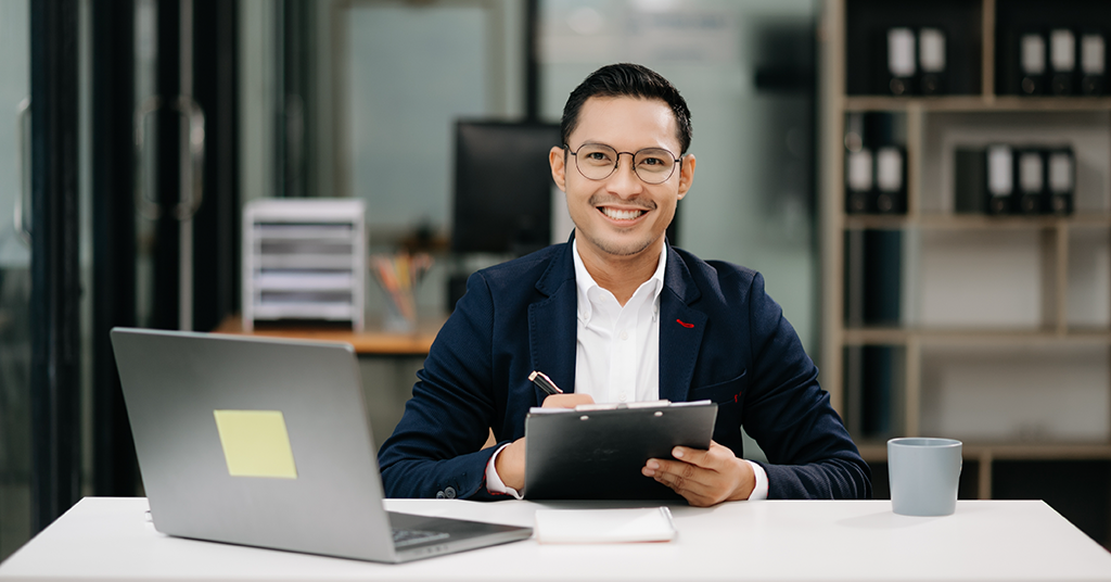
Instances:
[[[78,0],[31,2],[31,530],[80,494]]]

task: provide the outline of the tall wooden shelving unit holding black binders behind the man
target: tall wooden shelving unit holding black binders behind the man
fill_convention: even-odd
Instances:
[[[1004,3],[999,0],[999,4]],[[1025,0],[1022,6],[1034,3]],[[894,4],[904,3],[890,3]],[[974,491],[981,499],[990,499],[995,461],[1111,460],[1111,97],[997,95],[997,0],[947,0],[941,4],[942,11],[968,19],[964,29],[977,30],[964,45],[975,46],[980,52],[979,79],[968,83],[979,87],[978,93],[849,95],[852,27],[848,18],[868,12],[874,24],[872,9],[880,2],[830,0],[825,4],[819,95],[821,381],[843,416],[859,414],[853,407],[859,408],[862,396],[845,385],[847,349],[895,349],[893,374],[899,393],[891,398],[897,407],[893,428],[884,436],[962,438],[965,463],[975,467]],[[1044,4],[1048,13],[1057,6]],[[854,42],[859,50],[860,41]],[[858,87],[862,85],[859,77]],[[893,114],[898,134],[904,139],[905,215],[845,214],[847,116],[872,111]],[[1078,165],[1084,164],[1083,172],[1078,172],[1075,214],[955,214],[953,144],[982,146],[992,140],[1073,145]],[[863,230],[901,233],[898,323],[867,326],[845,320],[847,294],[859,293],[847,290],[847,238]],[[993,275],[997,272],[1011,280],[1000,282]],[[965,280],[972,284],[964,285]],[[994,295],[972,295],[980,293],[970,290],[979,288],[977,285]],[[970,307],[947,312],[961,305]],[[1060,377],[1054,373],[1065,365],[1071,366],[1071,379],[1041,386],[1040,394],[1034,389],[1035,383]],[[1022,377],[1015,379],[1017,374]],[[974,378],[980,378],[975,385]],[[990,386],[1007,378],[1015,384]],[[984,388],[980,382],[995,392],[977,394]],[[1022,398],[1027,398],[1024,404],[1011,402]],[[1054,398],[1061,401],[1059,410],[1047,412],[1045,417],[1054,422],[1079,418],[1071,426],[1031,421],[1025,425],[1019,422],[1025,426],[1021,430],[1000,428],[1012,405],[1022,411],[1020,415],[1030,414],[1031,406]],[[969,403],[991,401],[997,402],[994,411],[970,408]],[[980,414],[982,422],[974,426],[954,424],[970,414]],[[885,438],[854,437],[865,460],[885,462]]]

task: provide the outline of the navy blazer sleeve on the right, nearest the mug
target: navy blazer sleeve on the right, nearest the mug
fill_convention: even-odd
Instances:
[[[752,364],[743,424],[768,456],[761,463],[768,497],[871,499],[871,471],[760,274],[749,292],[749,322]]]

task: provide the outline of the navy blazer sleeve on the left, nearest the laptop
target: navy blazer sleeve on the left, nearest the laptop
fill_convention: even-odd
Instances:
[[[481,274],[437,335],[401,422],[378,453],[388,497],[493,499],[480,450],[494,415],[493,300]]]

